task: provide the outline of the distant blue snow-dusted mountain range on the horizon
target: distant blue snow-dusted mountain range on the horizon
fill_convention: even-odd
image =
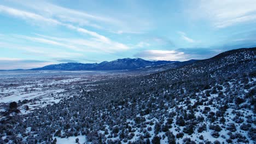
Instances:
[[[193,60],[195,61],[195,60]],[[154,66],[172,64],[172,67],[185,64],[179,61],[146,61],[141,58],[123,58],[111,62],[101,63],[61,63],[46,65],[42,68],[34,68],[30,70],[135,70]]]

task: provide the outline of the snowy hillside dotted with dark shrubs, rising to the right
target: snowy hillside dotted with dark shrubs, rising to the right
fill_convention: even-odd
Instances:
[[[255,143],[256,48],[146,76],[103,80],[1,120],[14,143]],[[93,91],[87,91],[93,89]],[[55,139],[56,138],[56,139]],[[62,139],[61,139],[62,138]]]

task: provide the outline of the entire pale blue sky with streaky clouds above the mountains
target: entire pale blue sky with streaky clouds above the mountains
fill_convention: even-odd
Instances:
[[[0,69],[205,59],[256,46],[255,0],[1,0]]]

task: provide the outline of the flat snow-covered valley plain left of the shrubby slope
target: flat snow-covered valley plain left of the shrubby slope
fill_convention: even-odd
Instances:
[[[111,71],[0,71],[0,111],[8,110],[8,104],[16,101],[21,113],[28,113],[83,91],[92,91],[84,87],[82,90],[81,86],[116,75],[119,73]]]

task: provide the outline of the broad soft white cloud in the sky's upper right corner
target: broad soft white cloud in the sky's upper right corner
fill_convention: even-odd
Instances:
[[[239,23],[255,22],[255,5],[254,0],[198,1],[190,14],[211,21],[216,28],[225,28]]]

